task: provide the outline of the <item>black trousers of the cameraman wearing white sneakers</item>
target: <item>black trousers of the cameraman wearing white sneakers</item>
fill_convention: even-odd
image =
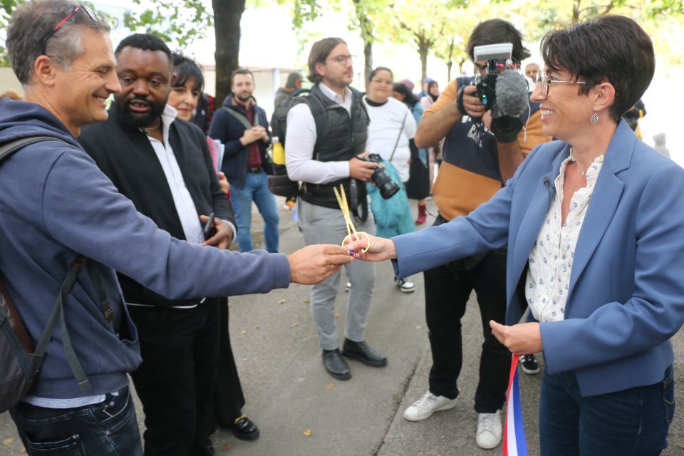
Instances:
[[[435,224],[440,222],[443,219],[438,218]],[[484,335],[475,411],[496,412],[506,398],[511,353],[492,335],[489,320],[504,323],[506,317],[506,251],[452,261],[425,271],[424,277],[425,318],[432,349],[430,391],[451,399],[458,395],[463,361],[461,318],[475,289]]]

